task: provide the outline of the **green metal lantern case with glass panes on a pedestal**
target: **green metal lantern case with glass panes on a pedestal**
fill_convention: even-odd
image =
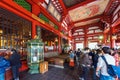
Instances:
[[[44,61],[44,44],[40,39],[33,39],[27,43],[27,61],[31,74],[39,73],[39,63]]]

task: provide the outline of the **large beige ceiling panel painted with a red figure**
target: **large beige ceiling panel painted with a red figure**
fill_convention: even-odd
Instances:
[[[86,18],[91,18],[97,15],[101,15],[104,12],[108,2],[109,0],[97,0],[87,5],[70,10],[68,13],[71,20],[74,22]]]

